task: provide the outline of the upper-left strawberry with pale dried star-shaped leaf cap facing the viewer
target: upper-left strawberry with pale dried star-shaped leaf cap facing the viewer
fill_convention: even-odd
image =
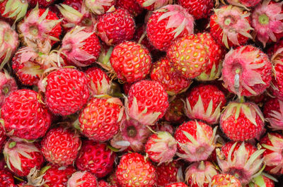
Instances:
[[[23,44],[33,45],[35,48],[42,44],[52,46],[59,41],[62,32],[60,22],[56,13],[49,11],[48,8],[35,6],[18,23],[19,37]]]

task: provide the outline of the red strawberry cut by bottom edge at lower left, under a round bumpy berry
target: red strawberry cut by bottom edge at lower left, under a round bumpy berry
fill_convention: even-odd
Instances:
[[[45,171],[45,169],[47,169]],[[62,187],[67,186],[67,181],[71,177],[76,169],[73,166],[67,167],[59,167],[54,164],[47,164],[47,166],[43,167],[41,170],[44,170],[44,176],[42,179],[46,181],[46,186],[52,187]]]

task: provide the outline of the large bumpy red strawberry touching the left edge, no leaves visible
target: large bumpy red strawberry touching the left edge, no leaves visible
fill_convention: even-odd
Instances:
[[[27,140],[41,138],[51,124],[49,111],[33,90],[12,92],[1,108],[1,118],[8,135]]]

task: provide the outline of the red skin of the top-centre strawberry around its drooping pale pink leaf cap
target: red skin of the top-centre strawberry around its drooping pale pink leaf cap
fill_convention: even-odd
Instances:
[[[158,21],[158,18],[160,18],[162,15],[163,12],[158,11],[154,12],[151,15],[147,23],[146,35],[149,39],[149,42],[151,42],[151,44],[154,45],[156,49],[167,51],[173,40],[175,40],[175,33],[173,32],[175,28],[166,29],[169,18],[164,18],[163,20]],[[178,38],[188,34],[189,33],[187,32],[187,30],[183,30],[180,35],[178,35]]]

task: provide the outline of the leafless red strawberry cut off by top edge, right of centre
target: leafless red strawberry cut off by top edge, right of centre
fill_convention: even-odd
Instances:
[[[178,0],[178,4],[187,9],[187,11],[195,17],[196,20],[207,18],[214,6],[213,0]]]

